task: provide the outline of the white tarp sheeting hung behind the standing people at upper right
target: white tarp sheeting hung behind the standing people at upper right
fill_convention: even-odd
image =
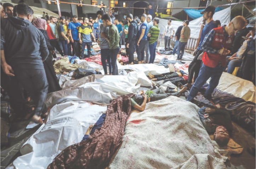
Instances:
[[[224,10],[218,11],[213,15],[214,20],[220,20],[221,25],[227,25],[230,21],[230,14],[231,14],[231,7],[228,7]],[[190,28],[190,38],[198,38],[200,29],[201,29],[201,23],[203,21],[203,17],[194,19],[189,22],[188,27]],[[166,19],[160,19],[159,21],[159,29],[160,34],[164,34],[165,26],[167,25]],[[173,20],[171,22],[172,28],[176,31],[179,26],[182,25],[182,21],[175,21]]]

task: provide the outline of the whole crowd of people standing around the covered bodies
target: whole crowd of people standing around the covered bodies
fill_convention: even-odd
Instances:
[[[1,5],[1,87],[10,95],[15,112],[22,116],[22,112],[27,111],[24,102],[33,100],[34,106],[28,118],[36,123],[43,123],[40,115],[47,111],[44,106],[46,94],[61,90],[52,65],[53,58],[56,58],[55,49],[62,56],[75,55],[85,58],[91,56],[92,43],[97,42],[101,49],[105,75],[108,74],[107,63],[109,74],[118,75],[116,57],[121,45],[125,46],[129,64],[134,63],[135,51],[138,64],[154,63],[160,32],[159,18],[142,14],[139,19],[129,13],[124,15],[124,20],[119,21],[112,17],[112,14],[106,14],[104,7],[101,3],[101,10],[97,11],[95,20],[73,15],[71,21],[65,17],[49,17],[45,12],[42,18],[33,17],[33,10],[23,3],[16,6],[9,3]],[[188,75],[177,74],[176,79],[173,79],[173,74],[163,75],[164,77],[149,75],[153,81],[172,80],[174,84],[186,81],[187,84],[181,89],[182,93],[183,90],[190,89],[188,101],[194,99],[210,77],[205,98],[211,99],[211,94],[226,67],[228,73],[232,73],[235,67],[243,65],[241,74],[246,78],[249,76],[250,79],[251,70],[248,68],[252,67],[252,63],[255,65],[255,27],[248,30],[246,25],[249,22],[242,16],[237,16],[228,25],[221,26],[219,21],[212,19],[214,13],[213,6],[208,6],[201,12],[206,24],[200,36],[199,46],[194,52],[195,57],[189,64]],[[170,39],[175,36],[172,54],[177,53],[177,61],[182,60],[190,38],[188,25],[189,21],[184,20],[175,31],[172,29],[171,20],[167,20],[165,26],[165,50],[171,50]],[[93,29],[96,31],[93,32]],[[249,38],[250,36],[253,38]],[[86,56],[85,47],[88,51]],[[164,95],[167,96],[169,95]],[[145,100],[144,98],[146,104]],[[141,109],[141,105],[133,104]]]

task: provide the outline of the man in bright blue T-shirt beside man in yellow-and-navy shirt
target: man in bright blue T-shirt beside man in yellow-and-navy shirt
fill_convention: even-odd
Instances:
[[[68,24],[68,30],[70,33],[70,41],[73,48],[73,54],[80,57],[81,54],[81,45],[79,43],[78,29],[81,24],[78,22],[76,15],[73,15],[73,22]]]

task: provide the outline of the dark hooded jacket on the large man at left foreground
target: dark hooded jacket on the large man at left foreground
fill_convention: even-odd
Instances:
[[[49,54],[42,32],[20,17],[1,19],[1,50],[12,68],[43,69]]]

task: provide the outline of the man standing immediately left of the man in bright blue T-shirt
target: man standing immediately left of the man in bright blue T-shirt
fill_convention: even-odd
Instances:
[[[66,36],[67,32],[64,29],[66,23],[66,19],[64,17],[59,18],[59,24],[57,26],[58,34],[59,34],[59,44],[61,45],[61,48],[63,49],[63,53],[65,56],[68,56],[68,43],[69,39]]]

